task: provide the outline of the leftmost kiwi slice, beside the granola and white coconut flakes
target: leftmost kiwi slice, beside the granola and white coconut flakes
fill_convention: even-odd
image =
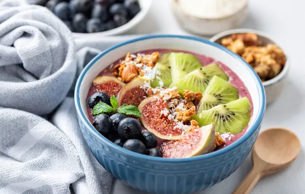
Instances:
[[[151,87],[157,87],[160,86],[159,82],[163,82],[163,86],[168,87],[171,84],[171,72],[170,72],[170,65],[168,61],[170,53],[164,53],[162,54],[156,65],[155,68],[161,72],[161,75],[156,75],[156,78],[151,81],[150,85]]]

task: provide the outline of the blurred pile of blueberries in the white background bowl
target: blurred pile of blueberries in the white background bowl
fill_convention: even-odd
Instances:
[[[138,0],[29,0],[29,3],[47,7],[77,33],[115,29],[140,11]]]

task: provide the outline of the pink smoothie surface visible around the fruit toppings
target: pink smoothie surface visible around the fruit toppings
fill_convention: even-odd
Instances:
[[[208,57],[208,56],[205,56],[205,55],[200,55],[200,54],[197,54],[197,53],[191,53],[191,52],[187,52],[187,51],[181,51],[181,50],[165,50],[165,49],[156,49],[156,50],[148,50],[148,51],[142,51],[140,52],[141,54],[151,54],[153,52],[159,52],[160,54],[163,54],[163,53],[168,53],[168,52],[183,52],[183,53],[189,53],[189,54],[192,54],[194,56],[196,56],[200,61],[201,63],[203,64],[203,66],[205,65],[208,65],[210,63],[213,63],[213,62],[216,62],[227,74],[227,76],[229,77],[229,82],[234,85],[238,91],[239,91],[239,98],[243,98],[243,97],[247,97],[250,104],[251,104],[251,116],[253,114],[253,103],[252,103],[252,99],[251,99],[251,96],[249,94],[249,91],[248,89],[246,88],[244,82],[239,79],[237,77],[237,75],[229,68],[227,67],[225,64],[219,62],[219,61],[216,61],[215,59],[211,58],[211,57]],[[135,53],[136,55],[137,53]],[[125,57],[125,56],[124,56]],[[107,66],[104,70],[102,70],[100,72],[100,74],[98,76],[112,76],[111,72],[110,72],[110,69],[115,65],[115,64],[118,64],[120,62],[120,60],[124,60],[124,57],[114,61],[112,64],[110,64],[109,66]],[[92,94],[94,94],[95,92],[98,92],[97,88],[92,84],[90,89],[89,89],[89,92],[88,92],[88,96],[87,96],[87,99],[89,98],[89,96],[91,96]],[[92,115],[92,110],[89,108],[89,106],[87,106],[87,111],[88,111],[88,114],[90,115],[90,121],[91,123],[93,123],[93,115]],[[247,131],[248,127],[246,127],[241,133],[239,134],[236,134],[234,135],[234,137],[231,137],[230,140],[226,139],[226,144],[224,147],[228,146],[229,144],[232,144],[234,141],[236,141],[237,139],[239,139],[241,136],[243,136],[246,131]],[[160,143],[160,139],[159,139],[159,143]],[[221,149],[221,148],[220,148]]]

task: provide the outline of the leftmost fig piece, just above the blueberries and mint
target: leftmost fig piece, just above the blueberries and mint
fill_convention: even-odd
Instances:
[[[97,87],[98,91],[105,92],[109,96],[117,96],[122,87],[125,85],[112,76],[100,76],[93,80],[93,84]]]

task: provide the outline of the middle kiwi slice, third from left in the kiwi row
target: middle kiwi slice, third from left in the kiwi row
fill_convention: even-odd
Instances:
[[[183,90],[191,90],[194,92],[204,92],[209,81],[216,75],[224,80],[229,80],[226,73],[217,65],[217,63],[211,63],[203,66],[200,69],[191,71],[189,74],[179,79],[177,82],[173,82],[170,87],[176,86],[180,94],[183,94]]]

